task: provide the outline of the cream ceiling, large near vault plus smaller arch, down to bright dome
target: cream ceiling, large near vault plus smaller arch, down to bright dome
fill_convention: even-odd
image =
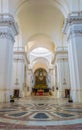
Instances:
[[[64,14],[59,9],[61,5],[57,6],[58,1],[14,0],[16,18],[28,53],[37,47],[47,48],[54,53],[56,46],[62,46]]]

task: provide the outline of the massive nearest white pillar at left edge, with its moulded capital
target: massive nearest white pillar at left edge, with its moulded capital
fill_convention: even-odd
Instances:
[[[9,14],[0,14],[0,102],[10,99],[13,45],[17,34],[14,18]]]

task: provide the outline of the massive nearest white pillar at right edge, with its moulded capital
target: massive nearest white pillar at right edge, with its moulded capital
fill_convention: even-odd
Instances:
[[[68,16],[63,31],[68,42],[71,96],[74,102],[82,102],[82,14]]]

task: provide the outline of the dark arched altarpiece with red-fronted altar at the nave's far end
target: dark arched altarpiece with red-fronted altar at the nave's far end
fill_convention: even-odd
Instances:
[[[37,96],[48,96],[49,88],[47,85],[48,73],[43,68],[38,68],[34,72],[35,84],[32,88],[32,93]]]

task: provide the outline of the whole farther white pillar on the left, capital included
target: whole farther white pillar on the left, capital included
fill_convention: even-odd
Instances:
[[[25,66],[25,51],[23,47],[14,48],[13,56],[13,72],[12,72],[12,92],[14,94],[15,89],[19,89],[19,96],[24,97],[24,66]]]

